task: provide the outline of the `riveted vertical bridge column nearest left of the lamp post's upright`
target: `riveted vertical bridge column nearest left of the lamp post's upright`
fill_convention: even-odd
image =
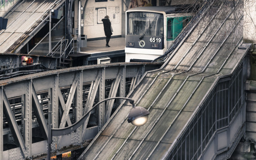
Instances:
[[[24,114],[24,140],[25,140],[25,156],[27,158],[32,157],[32,80],[26,82],[26,94],[25,94],[25,114]]]

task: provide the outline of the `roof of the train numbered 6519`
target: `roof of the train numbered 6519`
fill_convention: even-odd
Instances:
[[[172,13],[183,13],[184,8],[189,8],[190,5],[173,5],[173,6],[150,6],[150,7],[138,7],[138,8],[131,8],[126,12],[165,12],[166,14]],[[187,12],[191,12],[192,8],[190,8]]]

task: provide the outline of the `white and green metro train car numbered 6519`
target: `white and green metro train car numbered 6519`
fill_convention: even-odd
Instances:
[[[184,6],[183,6],[184,7]],[[138,7],[126,11],[125,61],[151,61],[164,54],[193,16],[182,6]]]

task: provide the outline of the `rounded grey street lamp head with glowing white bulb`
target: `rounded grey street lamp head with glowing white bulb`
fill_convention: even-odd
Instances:
[[[143,107],[134,107],[130,110],[128,115],[128,123],[132,123],[132,125],[140,127],[146,124],[148,121],[148,110]]]

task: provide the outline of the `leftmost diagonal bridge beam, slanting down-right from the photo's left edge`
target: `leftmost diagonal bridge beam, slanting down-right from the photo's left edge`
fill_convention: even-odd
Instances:
[[[8,125],[10,126],[10,130],[12,132],[12,136],[14,137],[15,139],[15,142],[18,144],[18,146],[20,147],[20,150],[21,150],[21,154],[23,156],[23,158],[25,158],[25,151],[26,151],[26,145],[24,143],[24,140],[20,134],[20,130],[18,128],[18,124],[15,120],[15,117],[13,115],[13,112],[12,112],[12,108],[10,106],[10,103],[7,99],[7,96],[4,92],[4,90],[2,90],[2,98],[3,98],[3,108],[4,108],[4,113],[5,113],[5,116],[8,120]]]

